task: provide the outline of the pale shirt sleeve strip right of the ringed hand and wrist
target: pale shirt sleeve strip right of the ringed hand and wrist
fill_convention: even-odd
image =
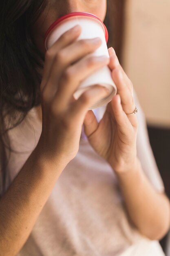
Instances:
[[[138,109],[137,119],[139,128],[137,132],[137,157],[141,162],[144,173],[158,192],[164,192],[164,184],[159,173],[155,157],[150,146],[146,118],[141,109],[137,94],[134,92],[134,100]]]

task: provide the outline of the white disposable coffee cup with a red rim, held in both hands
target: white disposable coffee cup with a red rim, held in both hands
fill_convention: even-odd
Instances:
[[[76,40],[80,39],[91,39],[99,37],[102,40],[102,45],[96,49],[93,53],[88,54],[88,56],[103,56],[106,55],[109,58],[107,42],[108,42],[108,31],[102,20],[92,13],[86,12],[74,12],[68,13],[57,19],[46,31],[44,37],[45,49],[49,49],[64,32],[75,27],[75,25],[80,25],[82,32]],[[89,90],[93,85],[101,85],[108,88],[109,93],[106,97],[95,102],[88,110],[93,108],[99,108],[109,103],[113,96],[117,93],[117,88],[113,82],[111,71],[107,65],[99,68],[93,74],[84,79],[77,90],[74,92],[73,97],[78,99],[83,92]]]

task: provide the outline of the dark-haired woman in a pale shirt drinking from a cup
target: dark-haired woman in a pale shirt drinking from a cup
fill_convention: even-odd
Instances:
[[[110,58],[85,60],[101,42],[76,42],[76,26],[44,52],[45,32],[57,18],[86,11],[104,20],[106,4],[0,3],[1,161],[8,159],[0,200],[3,256],[163,255],[152,240],[168,231],[170,204],[113,48]],[[95,86],[77,101],[73,92],[104,65],[118,94],[88,111],[107,92]]]

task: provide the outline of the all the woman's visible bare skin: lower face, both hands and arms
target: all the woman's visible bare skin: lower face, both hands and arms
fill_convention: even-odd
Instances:
[[[35,43],[42,50],[46,29],[68,12],[87,11],[104,20],[104,0],[62,2],[51,1],[48,14],[45,10],[33,27]],[[119,65],[113,48],[108,49],[110,58],[84,60],[83,57],[95,51],[101,42],[76,42],[80,33],[80,27],[67,31],[44,53],[40,84],[42,110],[39,108],[42,134],[0,200],[0,256],[15,256],[26,242],[57,179],[77,155],[83,124],[91,146],[115,171],[128,214],[137,229],[150,239],[160,239],[170,226],[169,200],[153,188],[136,156],[137,118],[126,115],[135,109],[132,83]],[[98,124],[93,111],[87,109],[108,92],[95,86],[77,101],[72,96],[81,79],[104,65],[110,67],[118,94],[108,103]]]

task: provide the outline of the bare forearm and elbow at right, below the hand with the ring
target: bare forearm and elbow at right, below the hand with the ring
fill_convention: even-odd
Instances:
[[[150,239],[161,239],[170,226],[170,203],[152,187],[139,160],[129,172],[117,173],[128,214],[139,231]]]

